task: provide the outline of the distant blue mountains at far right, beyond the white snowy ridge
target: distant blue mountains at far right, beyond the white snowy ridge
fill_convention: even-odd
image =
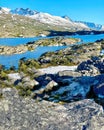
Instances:
[[[95,24],[95,23],[92,23],[92,22],[83,22],[83,21],[78,21],[78,23],[83,23],[92,30],[98,30],[98,31],[102,30],[102,25],[101,24]]]

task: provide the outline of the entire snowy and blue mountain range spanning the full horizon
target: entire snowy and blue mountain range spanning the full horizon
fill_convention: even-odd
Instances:
[[[104,26],[100,24],[94,24],[91,22],[82,22],[82,21],[73,21],[68,16],[53,16],[48,13],[37,12],[35,10],[31,10],[29,8],[16,8],[14,10],[0,7],[0,14],[1,13],[11,13],[13,15],[22,15],[29,17],[31,19],[35,19],[40,23],[49,24],[52,26],[62,26],[65,29],[72,29],[72,30],[104,30]]]

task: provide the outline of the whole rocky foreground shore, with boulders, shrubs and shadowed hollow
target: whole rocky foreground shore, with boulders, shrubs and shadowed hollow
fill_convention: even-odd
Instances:
[[[104,130],[102,49],[98,41],[0,66],[0,130]]]

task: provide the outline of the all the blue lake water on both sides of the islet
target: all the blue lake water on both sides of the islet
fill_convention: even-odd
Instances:
[[[67,36],[69,37],[69,36]],[[94,42],[96,40],[104,39],[104,34],[99,35],[75,35],[70,36],[73,38],[80,38],[83,43]],[[40,39],[40,37],[34,38],[0,38],[0,45],[8,45],[8,46],[17,46],[20,44],[26,44],[27,42],[32,42]],[[54,46],[54,47],[38,47],[33,52],[25,52],[23,54],[14,54],[14,55],[0,55],[0,64],[5,65],[6,68],[10,66],[18,67],[19,60],[23,57],[29,58],[39,58],[41,54],[47,51],[56,51],[66,48],[66,46]]]

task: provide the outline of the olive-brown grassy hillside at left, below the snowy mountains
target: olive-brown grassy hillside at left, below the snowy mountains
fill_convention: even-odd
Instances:
[[[50,30],[65,30],[62,27],[40,23],[28,17],[0,14],[0,37],[34,37]],[[70,29],[69,29],[70,30]]]

